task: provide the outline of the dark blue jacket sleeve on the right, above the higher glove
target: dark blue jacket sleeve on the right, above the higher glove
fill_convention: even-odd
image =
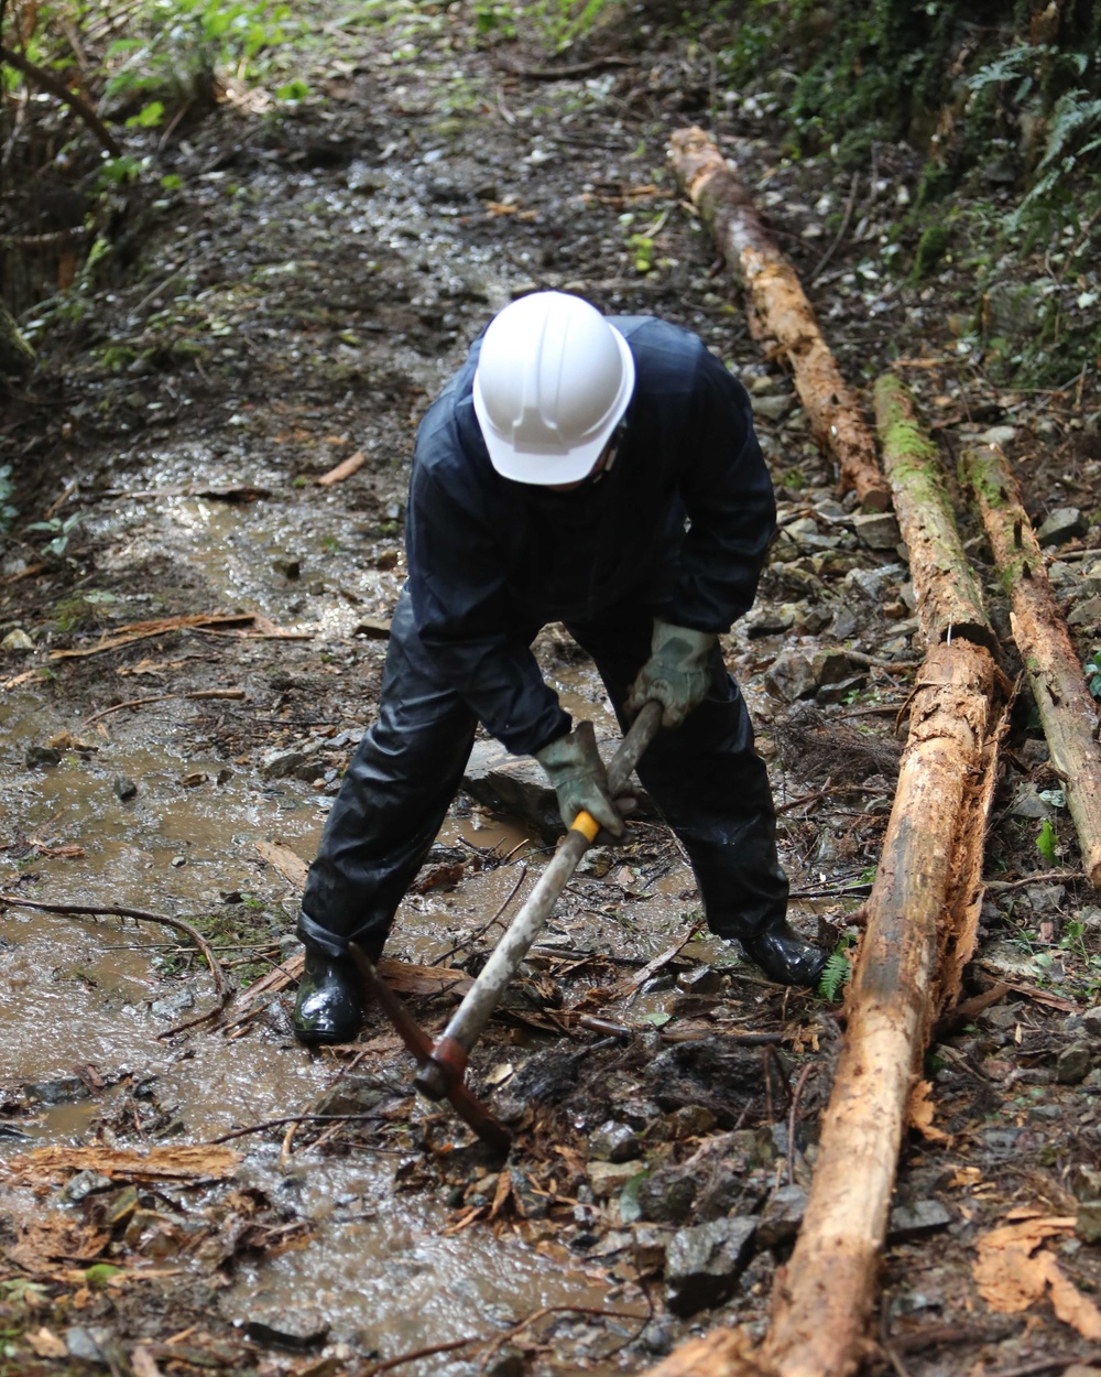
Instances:
[[[724,632],[753,606],[776,500],[746,390],[706,351],[692,409],[680,479],[688,533],[669,620]]]

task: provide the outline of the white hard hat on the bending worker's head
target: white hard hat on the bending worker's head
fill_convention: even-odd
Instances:
[[[473,409],[504,478],[575,483],[592,471],[633,390],[628,341],[595,306],[533,292],[490,322]]]

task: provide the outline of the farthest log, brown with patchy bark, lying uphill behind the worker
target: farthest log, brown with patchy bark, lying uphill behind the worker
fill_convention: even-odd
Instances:
[[[841,490],[853,489],[864,511],[886,511],[890,490],[875,460],[874,438],[794,267],[769,238],[734,168],[702,129],[674,131],[669,149],[677,178],[749,293],[754,335],[775,339],[787,355],[815,439],[838,464]]]

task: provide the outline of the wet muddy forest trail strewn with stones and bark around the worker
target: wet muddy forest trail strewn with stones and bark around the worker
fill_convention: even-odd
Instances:
[[[829,156],[787,161],[767,107],[716,101],[706,51],[633,26],[555,74],[461,10],[330,33],[297,112],[226,99],[184,124],[157,153],[172,189],[131,198],[110,281],[45,329],[0,421],[21,512],[0,567],[3,1373],[633,1373],[712,1325],[764,1332],[923,651],[897,529],[838,498],[666,165],[674,128],[738,161],[855,387],[895,362],[948,471],[992,439],[1038,526],[1075,509],[1043,538],[1094,650],[1091,376],[999,388],[958,348],[951,264],[890,273],[912,151],[881,146],[846,211]],[[644,808],[586,855],[475,1052],[502,1165],[413,1095],[380,1015],[310,1052],[289,1011],[301,877],[405,576],[416,424],[533,286],[683,324],[753,397],[782,533],[724,650],[793,921],[840,956],[833,998],[765,980],[702,928]],[[556,627],[537,651],[611,749],[592,664]],[[432,1031],[553,850],[537,777],[479,739],[402,903],[389,974]],[[870,1371],[1091,1352],[1042,1290],[994,1308],[974,1274],[992,1230],[1038,1219],[1078,1292],[1101,1286],[1101,906],[1021,691],[985,879],[966,993],[1001,991],[926,1059]]]

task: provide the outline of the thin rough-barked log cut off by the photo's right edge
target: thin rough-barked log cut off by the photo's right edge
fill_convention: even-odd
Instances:
[[[996,445],[977,445],[965,452],[962,468],[1009,593],[1013,639],[1036,700],[1051,767],[1067,792],[1082,866],[1090,884],[1101,890],[1097,705],[1086,687],[1067,621],[1047,580],[1043,552],[1005,454]]]

